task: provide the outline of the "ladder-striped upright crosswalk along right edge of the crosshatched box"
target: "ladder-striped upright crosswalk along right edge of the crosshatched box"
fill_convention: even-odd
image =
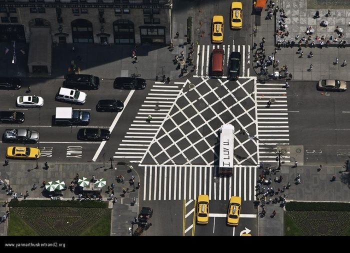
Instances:
[[[256,83],[259,159],[276,162],[276,145],[289,145],[287,96],[284,83]],[[271,101],[270,107],[266,107]],[[283,159],[290,162],[289,152]]]

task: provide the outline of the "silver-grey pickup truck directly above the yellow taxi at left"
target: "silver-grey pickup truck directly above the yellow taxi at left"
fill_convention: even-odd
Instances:
[[[6,129],[3,133],[4,142],[36,143],[39,140],[39,132],[35,130],[18,128]]]

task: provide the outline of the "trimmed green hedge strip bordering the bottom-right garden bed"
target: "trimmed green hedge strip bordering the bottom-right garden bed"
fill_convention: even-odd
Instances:
[[[350,203],[339,202],[287,202],[287,211],[350,211]]]

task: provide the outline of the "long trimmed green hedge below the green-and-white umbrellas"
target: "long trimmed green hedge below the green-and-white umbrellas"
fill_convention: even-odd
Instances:
[[[108,208],[108,202],[94,200],[14,200],[8,203],[9,207],[85,207]]]

